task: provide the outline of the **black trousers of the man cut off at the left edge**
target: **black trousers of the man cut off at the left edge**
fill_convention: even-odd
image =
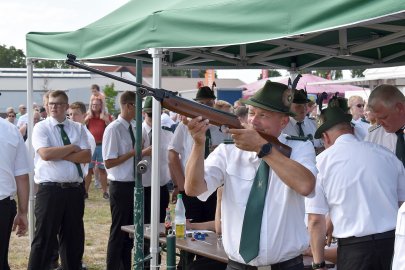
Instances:
[[[10,200],[7,197],[0,201],[0,269],[10,270],[10,266],[8,265],[8,247],[16,214],[17,207],[14,200]]]

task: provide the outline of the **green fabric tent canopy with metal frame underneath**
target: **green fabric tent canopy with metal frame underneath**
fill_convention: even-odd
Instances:
[[[176,68],[361,68],[405,63],[405,1],[133,0],[73,32],[27,34],[27,57]],[[362,47],[359,47],[362,46]]]

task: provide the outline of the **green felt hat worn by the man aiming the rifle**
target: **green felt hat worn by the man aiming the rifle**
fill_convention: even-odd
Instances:
[[[267,81],[262,89],[242,102],[264,110],[295,116],[294,113],[290,112],[292,100],[293,92],[288,89],[287,85]]]

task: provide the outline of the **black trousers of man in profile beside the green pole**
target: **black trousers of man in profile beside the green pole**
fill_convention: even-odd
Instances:
[[[135,182],[110,181],[111,228],[107,246],[107,270],[130,270],[133,240],[121,226],[134,224]]]

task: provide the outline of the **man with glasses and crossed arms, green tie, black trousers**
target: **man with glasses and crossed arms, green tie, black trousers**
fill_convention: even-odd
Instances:
[[[64,269],[80,269],[84,247],[83,168],[91,159],[83,126],[66,118],[64,91],[49,94],[50,116],[35,125],[35,234],[28,269],[49,269],[59,234]]]

